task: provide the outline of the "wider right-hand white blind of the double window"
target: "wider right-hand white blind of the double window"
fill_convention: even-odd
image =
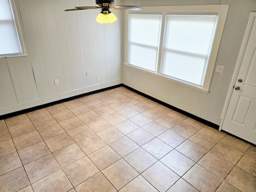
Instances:
[[[202,87],[218,15],[166,15],[160,74]]]

